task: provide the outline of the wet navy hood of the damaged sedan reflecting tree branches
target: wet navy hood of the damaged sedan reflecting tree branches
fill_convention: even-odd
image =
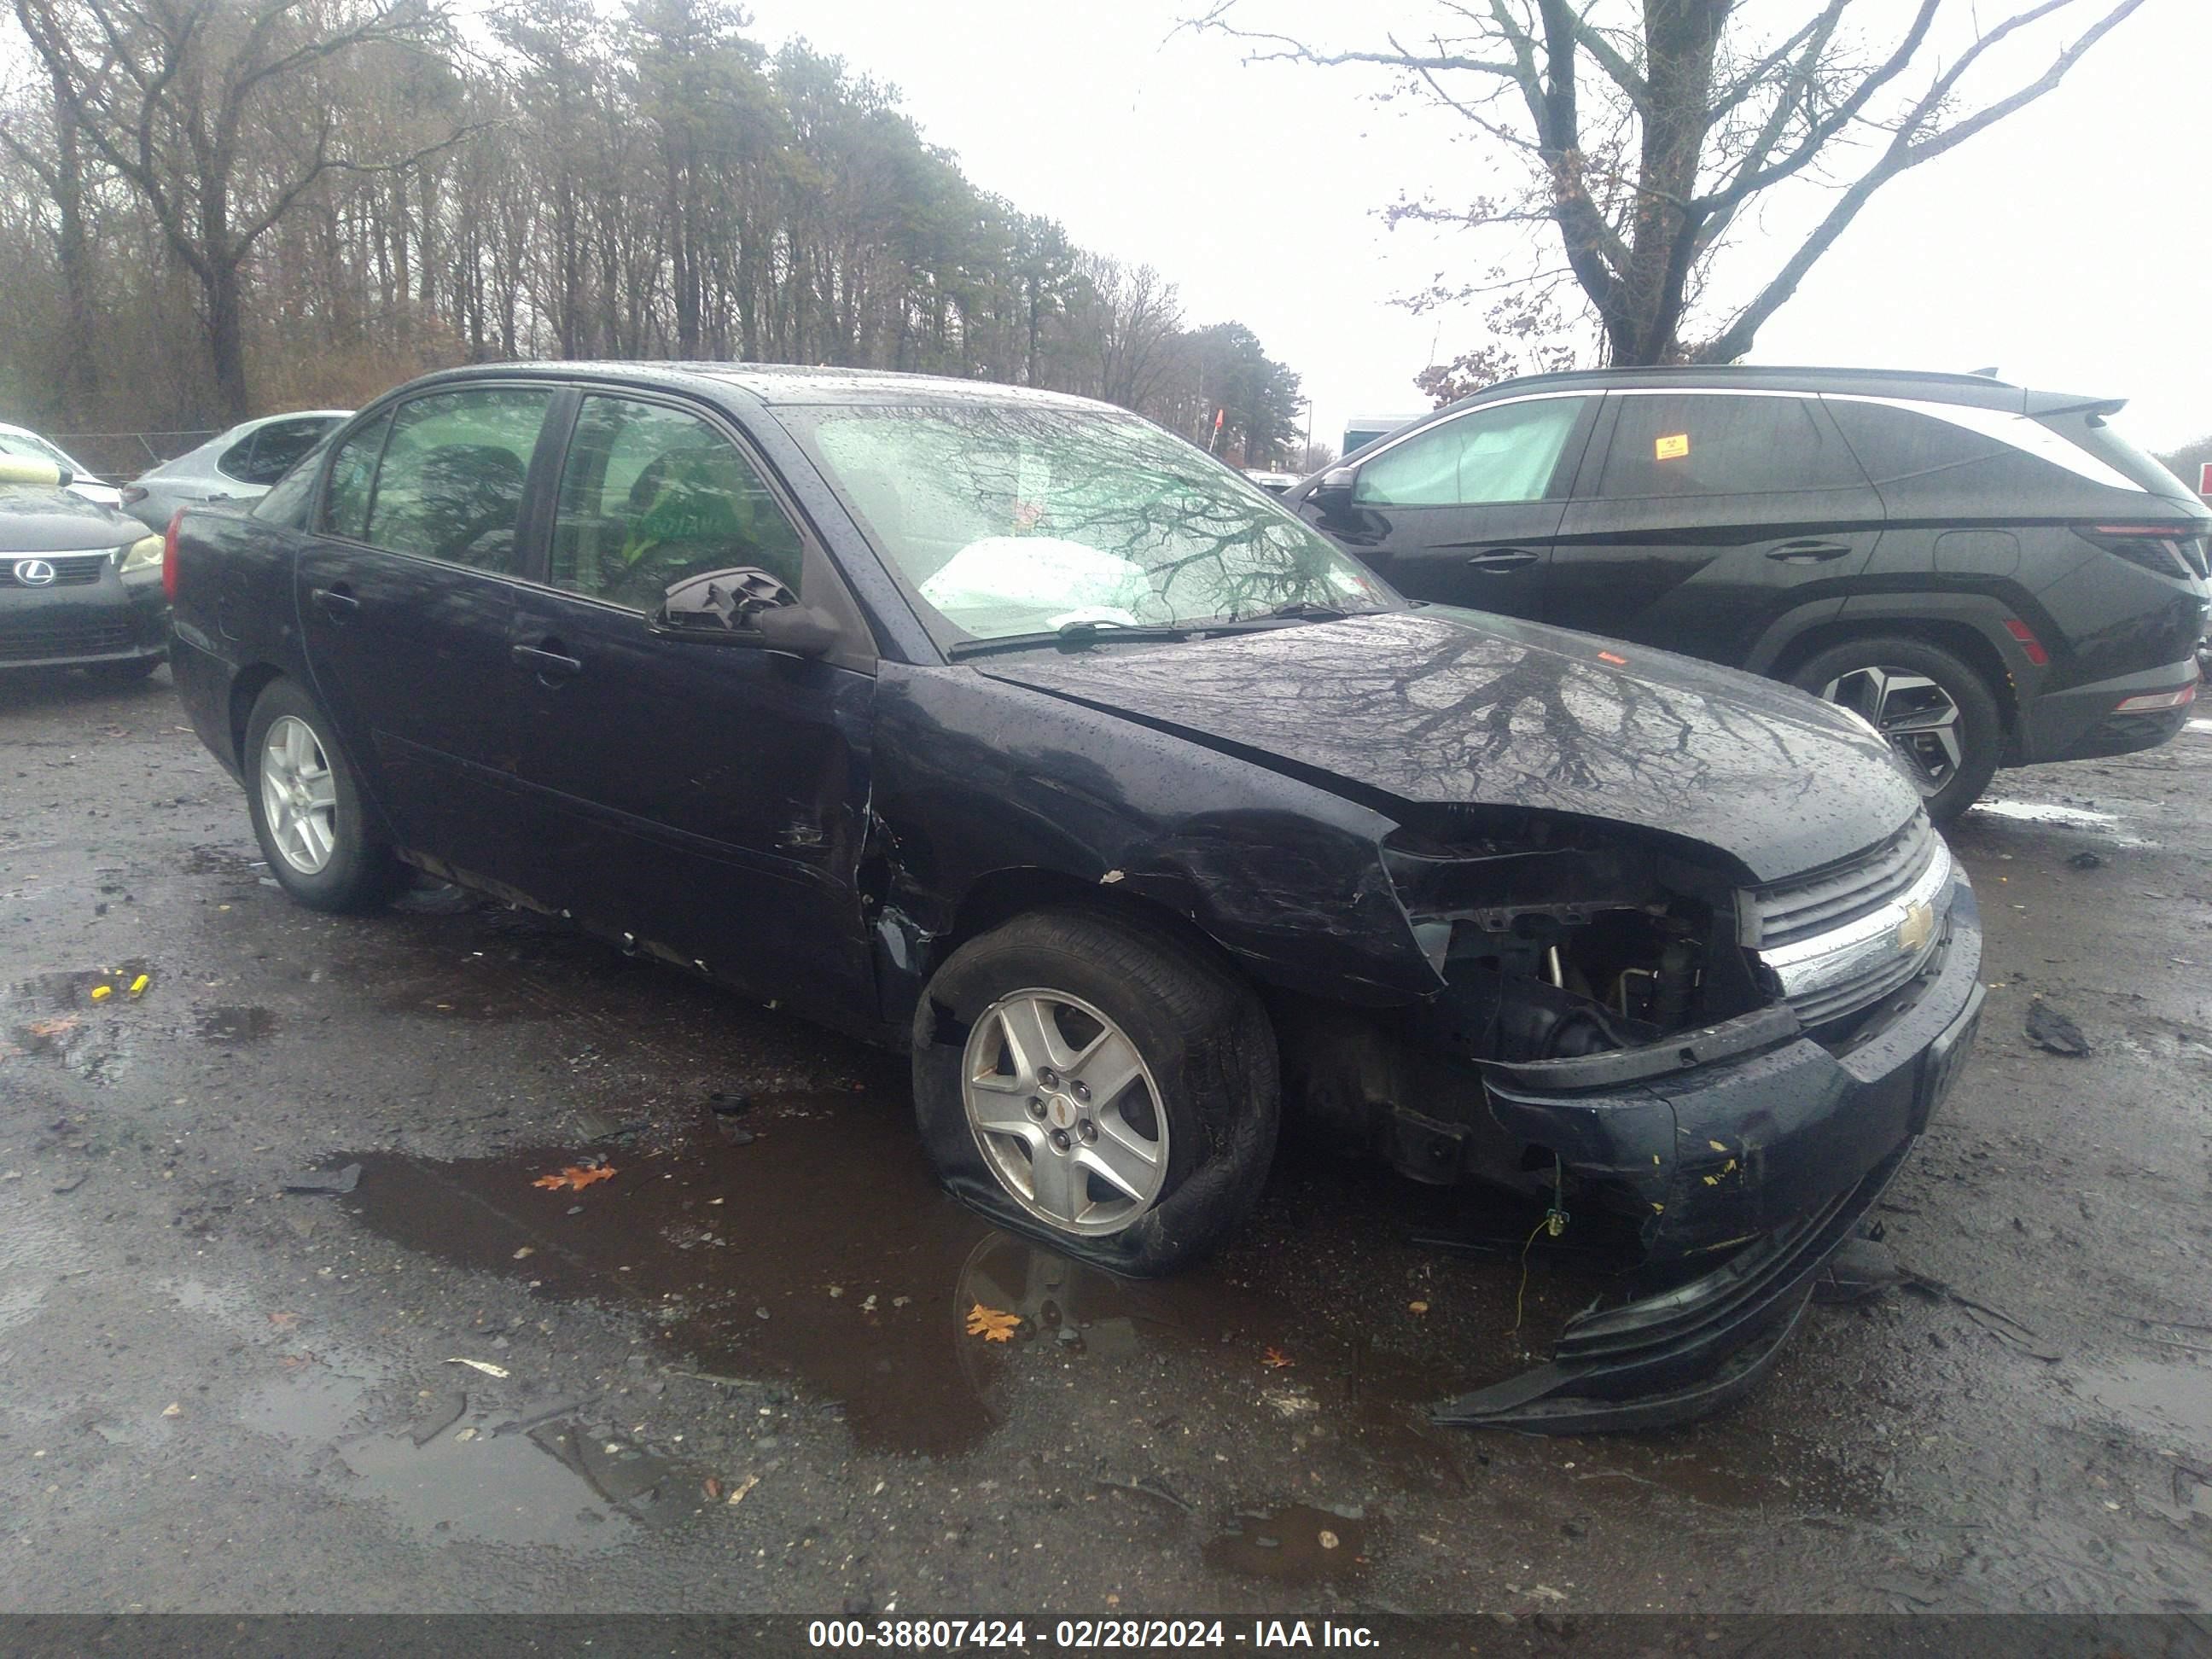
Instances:
[[[1475,611],[975,668],[1405,803],[1537,807],[1683,836],[1759,883],[1863,852],[1920,807],[1887,745],[1805,692]]]

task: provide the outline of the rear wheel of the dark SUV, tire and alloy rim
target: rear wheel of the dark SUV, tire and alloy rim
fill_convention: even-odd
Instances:
[[[1997,695],[1980,670],[1942,646],[1905,635],[1845,639],[1801,661],[1790,684],[1856,708],[1880,728],[1936,823],[1971,807],[1997,770],[2004,750]]]

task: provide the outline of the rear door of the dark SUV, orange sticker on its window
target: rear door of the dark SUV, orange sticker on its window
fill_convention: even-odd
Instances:
[[[1816,396],[1615,389],[1559,522],[1544,619],[1723,664],[1834,615],[1882,502]]]

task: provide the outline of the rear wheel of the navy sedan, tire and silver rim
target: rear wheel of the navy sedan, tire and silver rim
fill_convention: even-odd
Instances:
[[[270,752],[272,739],[279,754]],[[330,717],[296,681],[274,679],[254,701],[243,761],[254,838],[285,894],[310,909],[365,911],[407,885],[407,867],[369,816]],[[288,783],[299,792],[296,816],[272,827],[270,814],[285,812],[272,794],[281,796]],[[312,810],[301,810],[303,801]],[[301,821],[312,825],[303,830]]]

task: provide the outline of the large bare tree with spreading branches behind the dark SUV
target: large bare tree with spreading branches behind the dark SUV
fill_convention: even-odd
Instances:
[[[1887,42],[1847,27],[1871,20],[1865,0],[1820,0],[1778,38],[1756,38],[1741,0],[1433,0],[1422,27],[1358,46],[1245,27],[1243,0],[1214,0],[1188,27],[1245,42],[1250,60],[1380,69],[1455,113],[1513,159],[1520,184],[1405,201],[1396,217],[1548,223],[1613,363],[1725,363],[1876,190],[2033,104],[2143,0],[2015,4],[1984,20],[1978,0],[1911,0]],[[2079,33],[2053,44],[2066,24]],[[2035,73],[1986,84],[1993,53],[2037,44]],[[1792,179],[1832,186],[1832,206],[1747,301],[1686,341],[1728,230]]]

